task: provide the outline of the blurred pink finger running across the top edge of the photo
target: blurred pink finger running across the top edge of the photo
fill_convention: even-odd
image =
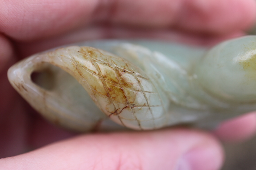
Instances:
[[[16,40],[34,40],[101,23],[228,33],[252,25],[255,4],[254,0],[1,0],[0,31]]]

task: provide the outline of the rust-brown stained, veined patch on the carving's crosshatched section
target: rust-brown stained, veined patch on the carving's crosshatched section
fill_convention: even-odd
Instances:
[[[108,100],[107,108],[101,109],[109,111],[110,115],[118,115],[125,108],[147,106],[146,96],[143,95],[141,84],[136,77],[145,80],[147,78],[131,69],[127,61],[114,56],[106,57],[92,47],[81,47],[79,53],[85,59],[83,66],[78,66],[79,74],[88,83],[94,95]],[[138,97],[144,98],[145,102],[138,103]]]

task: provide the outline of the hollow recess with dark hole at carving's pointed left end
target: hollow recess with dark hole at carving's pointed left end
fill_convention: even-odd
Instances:
[[[31,80],[46,90],[48,97],[59,103],[62,109],[70,110],[73,117],[76,115],[80,119],[84,115],[88,121],[94,117],[104,117],[84,87],[63,69],[42,63],[41,67],[31,74]]]

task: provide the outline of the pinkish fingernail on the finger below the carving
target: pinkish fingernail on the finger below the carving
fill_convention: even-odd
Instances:
[[[197,147],[183,155],[177,170],[218,170],[222,154],[215,147]]]

